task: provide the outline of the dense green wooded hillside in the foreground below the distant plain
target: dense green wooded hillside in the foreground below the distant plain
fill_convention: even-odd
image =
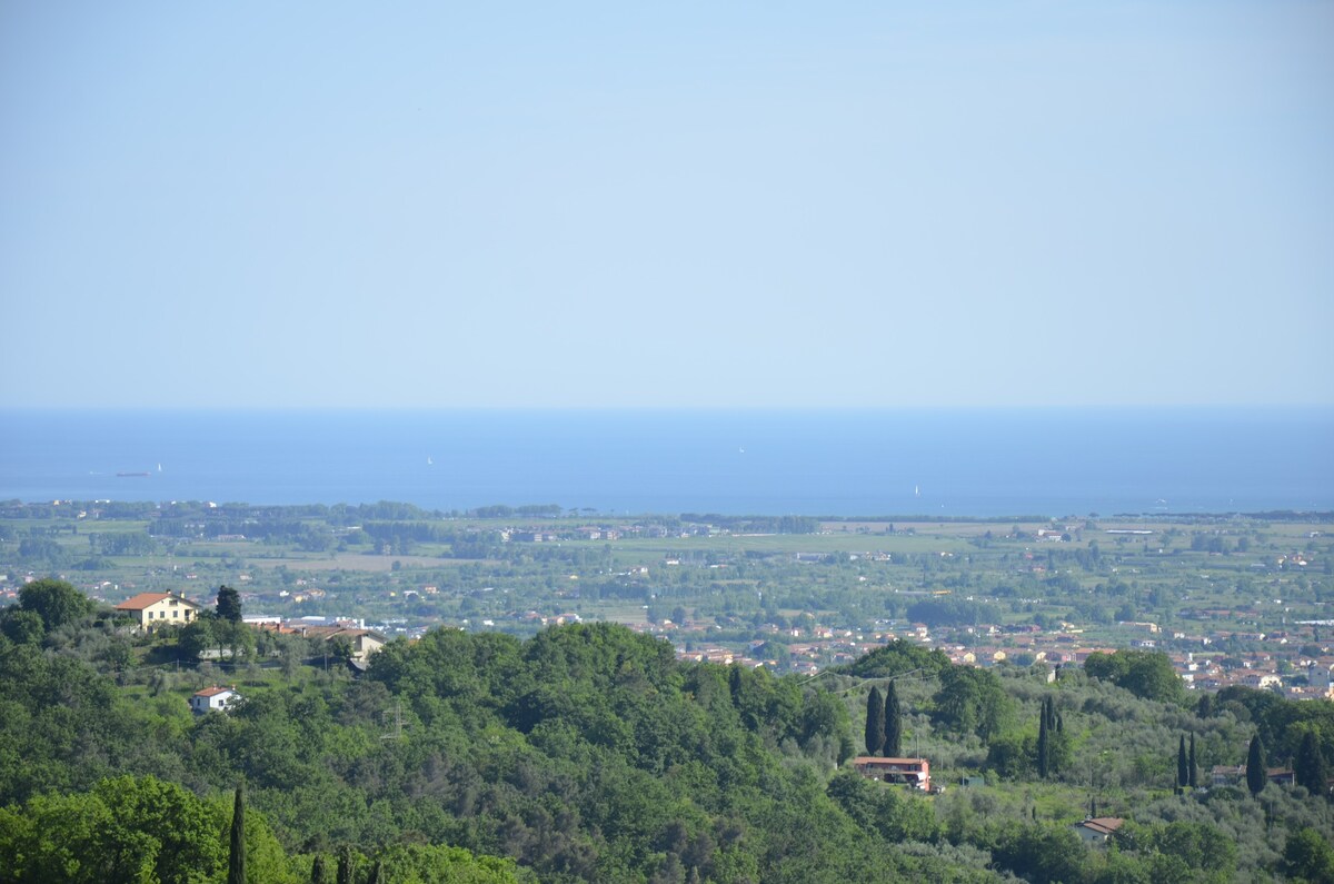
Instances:
[[[575,624],[436,629],[358,677],[281,637],[181,668],[177,638],[57,581],[0,613],[0,881],[225,881],[239,784],[256,883],[1334,880],[1334,704],[1191,701],[1158,654],[775,677]],[[244,700],[193,716],[219,681]],[[851,770],[891,685],[943,793]],[[1305,785],[1209,788],[1253,744]],[[1126,823],[1090,847],[1089,815]]]

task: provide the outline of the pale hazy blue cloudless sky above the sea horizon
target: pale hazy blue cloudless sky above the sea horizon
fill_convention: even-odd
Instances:
[[[0,406],[1334,405],[1334,4],[0,5]]]

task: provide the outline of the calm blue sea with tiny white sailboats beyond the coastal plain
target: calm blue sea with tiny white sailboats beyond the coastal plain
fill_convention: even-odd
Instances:
[[[0,499],[556,503],[614,515],[1327,511],[1334,410],[8,410]]]

